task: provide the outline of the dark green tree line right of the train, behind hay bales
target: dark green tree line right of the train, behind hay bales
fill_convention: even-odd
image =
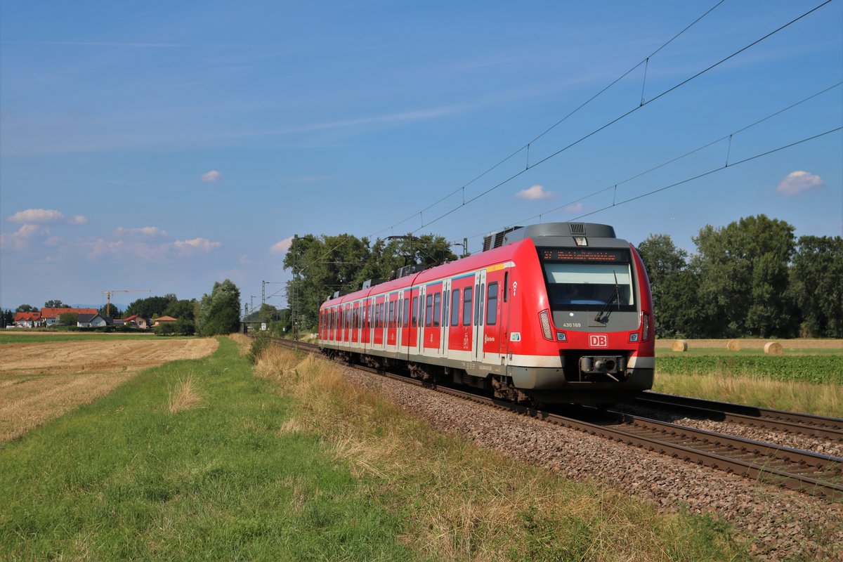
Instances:
[[[668,234],[638,245],[656,334],[688,338],[843,338],[843,238],[794,236],[765,215],[706,225],[692,254]]]

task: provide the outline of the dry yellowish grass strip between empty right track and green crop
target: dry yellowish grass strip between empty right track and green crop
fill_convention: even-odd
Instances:
[[[731,377],[722,372],[695,375],[657,372],[652,389],[661,393],[843,418],[843,387],[838,384]]]

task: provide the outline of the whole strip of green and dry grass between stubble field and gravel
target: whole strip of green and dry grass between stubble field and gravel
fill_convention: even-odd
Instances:
[[[0,559],[744,559],[661,514],[432,431],[323,361],[233,340],[0,444]]]

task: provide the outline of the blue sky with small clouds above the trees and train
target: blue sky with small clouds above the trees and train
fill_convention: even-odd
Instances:
[[[840,131],[612,206],[843,125],[840,0],[652,100],[821,2],[726,0],[540,136],[717,2],[3,0],[0,306],[225,278],[257,302],[289,279],[293,233],[477,251],[593,213],[692,250],[706,224],[765,213],[841,235]]]

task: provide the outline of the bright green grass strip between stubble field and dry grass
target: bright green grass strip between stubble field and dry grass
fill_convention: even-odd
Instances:
[[[188,377],[201,403],[170,413]],[[271,387],[221,339],[0,446],[0,559],[413,559],[372,484],[279,433]]]

